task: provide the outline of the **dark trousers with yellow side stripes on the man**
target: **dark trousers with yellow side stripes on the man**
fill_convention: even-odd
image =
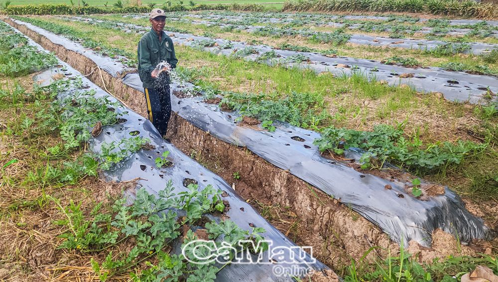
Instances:
[[[149,120],[155,126],[159,134],[164,137],[166,130],[168,129],[169,117],[171,116],[169,84],[164,87],[144,89]]]

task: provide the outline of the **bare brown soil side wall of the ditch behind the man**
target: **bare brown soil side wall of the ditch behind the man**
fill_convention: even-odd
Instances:
[[[63,61],[67,60],[66,62],[76,70],[88,74],[98,69],[97,64],[85,55],[55,44],[25,25],[8,19],[5,21],[40,43],[44,48],[55,52]],[[125,85],[120,75],[98,71],[87,77],[124,100],[135,112],[143,117],[146,116],[143,93]],[[178,103],[180,102],[182,101]],[[292,175],[288,170],[277,168],[244,147],[234,146],[214,137],[177,113],[172,115],[171,129],[168,135],[173,144],[187,155],[196,152],[203,156],[208,165],[219,172],[227,182],[234,182],[233,174],[237,172],[239,179],[234,185],[235,191],[244,199],[288,207],[287,209],[295,214],[291,217],[300,224],[300,231],[295,235],[296,241],[301,245],[313,246],[314,255],[333,268],[340,269],[348,265],[350,256],[359,259],[373,246],[391,249],[391,255],[398,248],[398,243],[391,241],[386,233],[364,216],[353,211],[352,208],[357,207],[344,205],[341,199],[333,199]],[[338,181],[341,182],[341,180]],[[372,217],[369,219],[374,220]],[[431,248],[421,247],[416,241],[409,242],[410,246],[414,246],[412,252],[430,251],[436,255],[443,254],[441,248],[438,251],[438,240],[436,240],[438,232],[441,230],[435,229],[431,232],[436,235],[433,237]],[[450,244],[454,242],[454,245],[457,245],[456,239],[451,235],[445,242]],[[462,248],[469,253],[475,252],[465,246]],[[451,248],[444,248],[446,253],[452,254],[457,254],[457,250],[457,247],[454,252]],[[379,250],[376,254],[371,253],[371,257],[385,254],[386,251]]]

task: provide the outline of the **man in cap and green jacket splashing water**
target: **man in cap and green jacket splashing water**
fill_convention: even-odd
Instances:
[[[145,90],[145,102],[149,120],[161,136],[166,134],[169,117],[171,116],[171,98],[169,84],[171,83],[167,68],[157,70],[159,63],[165,61],[171,69],[176,68],[178,60],[175,56],[173,41],[164,33],[166,16],[161,9],[150,12],[150,32],[142,36],[138,43],[138,75]]]

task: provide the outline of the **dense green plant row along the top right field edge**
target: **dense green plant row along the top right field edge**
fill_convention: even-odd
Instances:
[[[289,0],[284,11],[367,11],[367,12],[423,12],[439,15],[496,18],[496,4],[482,4],[472,0]]]

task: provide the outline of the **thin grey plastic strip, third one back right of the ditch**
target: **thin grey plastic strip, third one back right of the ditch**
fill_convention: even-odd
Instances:
[[[89,21],[89,18],[75,16],[72,17],[77,20]],[[246,32],[255,32],[261,28],[266,28],[266,26],[257,26],[257,25],[239,25],[239,24],[230,24],[230,23],[220,23],[213,22],[207,20],[191,20],[185,18],[174,18],[169,17],[168,21],[178,21],[188,24],[204,24],[207,26],[220,26],[220,27],[231,27],[237,30],[246,31]],[[96,20],[99,21],[99,20]],[[305,37],[313,36],[314,34],[318,34],[318,32],[311,30],[299,30],[299,29],[290,29],[293,33],[300,34]],[[322,34],[327,34],[331,32],[320,32]],[[448,42],[441,40],[425,40],[425,39],[400,39],[400,38],[389,38],[382,36],[370,36],[363,34],[352,34],[351,38],[348,40],[350,43],[361,44],[361,45],[371,45],[371,46],[388,46],[395,48],[406,48],[406,49],[415,49],[415,50],[433,50],[438,48],[439,46],[446,45]],[[483,54],[488,53],[492,50],[498,49],[498,44],[490,44],[490,43],[480,43],[480,42],[470,42],[467,43],[470,46],[469,50],[466,50],[464,53],[466,54]]]

